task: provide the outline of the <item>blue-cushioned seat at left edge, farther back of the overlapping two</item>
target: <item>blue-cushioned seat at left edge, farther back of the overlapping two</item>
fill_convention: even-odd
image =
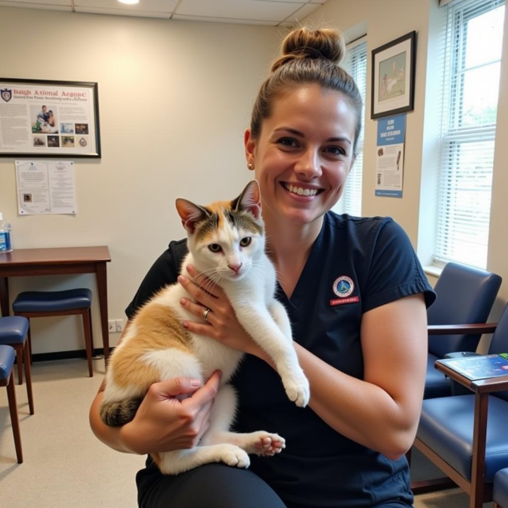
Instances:
[[[0,344],[7,344],[16,351],[18,362],[19,384],[23,383],[23,363],[26,376],[26,394],[30,415],[34,414],[34,397],[31,388],[30,357],[28,353],[27,335],[29,323],[26,317],[5,316],[0,317]]]

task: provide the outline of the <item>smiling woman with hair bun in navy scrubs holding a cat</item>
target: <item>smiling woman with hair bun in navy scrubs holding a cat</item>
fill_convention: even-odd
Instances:
[[[223,289],[186,267],[193,279],[178,278],[189,295],[180,303],[195,320],[182,325],[249,353],[232,379],[239,400],[235,430],[273,428],[288,449],[270,460],[253,456],[249,471],[207,464],[168,476],[148,460],[137,476],[142,508],[411,506],[404,453],[420,415],[425,305],[435,295],[393,220],[330,211],[346,185],[361,127],[360,93],[337,65],[343,53],[336,31],[293,30],[244,134],[247,168],[261,188],[276,297],[310,381],[309,405],[288,401],[273,361],[252,349]],[[170,243],[126,309],[130,319],[162,285],[177,280],[186,252],[184,241]],[[101,423],[100,392],[90,410],[92,428],[117,450],[175,450],[182,435],[206,432],[218,387],[215,375],[199,390],[189,383],[152,385],[121,429]],[[182,393],[192,393],[198,406],[185,418],[175,410]]]

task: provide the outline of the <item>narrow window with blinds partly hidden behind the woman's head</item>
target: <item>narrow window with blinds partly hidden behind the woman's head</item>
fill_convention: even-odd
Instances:
[[[365,86],[367,82],[367,41],[362,37],[347,46],[348,58],[344,69],[356,81],[363,100],[362,130],[358,139],[357,157],[349,176],[344,193],[334,208],[338,213],[361,215],[362,213],[362,173],[363,173],[363,133],[365,121]]]

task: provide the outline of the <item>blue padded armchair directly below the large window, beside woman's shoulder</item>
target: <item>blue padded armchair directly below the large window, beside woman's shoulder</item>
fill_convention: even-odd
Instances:
[[[451,395],[449,380],[434,363],[455,351],[476,351],[481,333],[464,334],[442,325],[485,323],[501,277],[480,268],[448,263],[434,286],[436,301],[427,311],[429,352],[424,399]],[[454,333],[454,335],[451,335]]]

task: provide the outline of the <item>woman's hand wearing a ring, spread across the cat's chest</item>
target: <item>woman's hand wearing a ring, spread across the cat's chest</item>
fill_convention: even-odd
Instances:
[[[239,323],[223,289],[200,274],[192,265],[187,266],[186,270],[192,279],[180,275],[178,282],[193,300],[182,298],[180,303],[199,321],[184,321],[183,326],[190,332],[206,335],[238,351],[264,358],[264,351]],[[210,310],[205,321],[206,309]]]

